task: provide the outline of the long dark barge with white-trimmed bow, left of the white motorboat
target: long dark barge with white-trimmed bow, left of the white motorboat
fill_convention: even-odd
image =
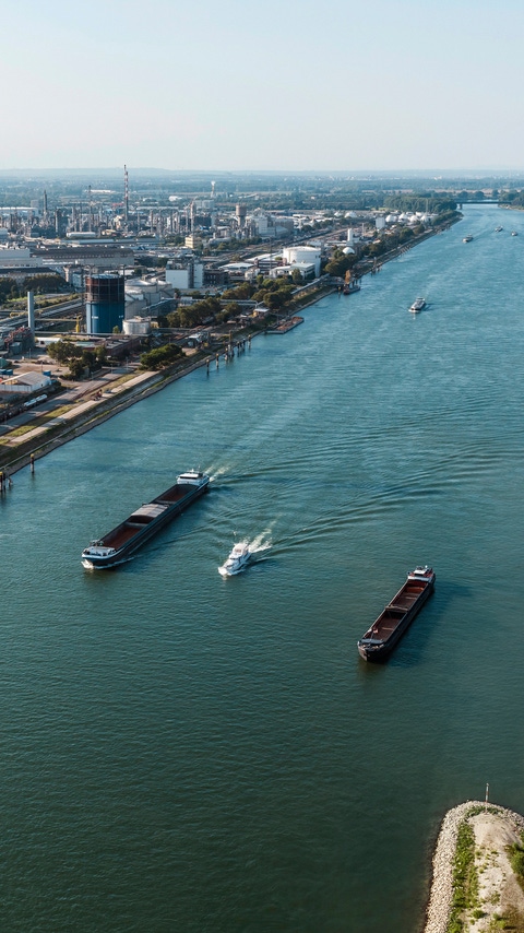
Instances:
[[[92,541],[82,552],[82,564],[87,570],[98,570],[128,560],[150,538],[206,493],[209,483],[205,473],[181,473],[174,486],[145,503],[104,538]]]

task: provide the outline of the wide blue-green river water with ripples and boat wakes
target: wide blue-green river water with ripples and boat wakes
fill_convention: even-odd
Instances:
[[[2,930],[416,933],[444,812],[487,781],[524,812],[523,250],[524,215],[469,208],[15,475]],[[210,494],[135,559],[82,568],[199,465]],[[434,595],[366,665],[418,563]]]

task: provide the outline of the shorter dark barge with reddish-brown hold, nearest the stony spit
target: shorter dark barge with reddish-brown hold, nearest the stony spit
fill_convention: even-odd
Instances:
[[[358,640],[358,653],[365,661],[382,661],[409,627],[417,612],[434,589],[432,567],[416,567],[383,612]]]

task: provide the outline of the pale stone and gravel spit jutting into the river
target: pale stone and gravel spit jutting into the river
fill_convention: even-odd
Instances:
[[[460,909],[462,925],[453,929],[487,933],[504,929],[508,921],[510,929],[524,930],[524,890],[510,861],[511,848],[522,846],[524,817],[502,806],[467,801],[450,810],[442,822],[424,933],[448,933],[452,911],[457,909],[454,890],[460,882],[454,881],[454,863],[465,823],[473,830],[469,887]]]

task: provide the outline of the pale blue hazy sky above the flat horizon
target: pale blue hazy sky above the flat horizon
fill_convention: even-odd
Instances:
[[[523,0],[0,0],[0,169],[524,168]]]

